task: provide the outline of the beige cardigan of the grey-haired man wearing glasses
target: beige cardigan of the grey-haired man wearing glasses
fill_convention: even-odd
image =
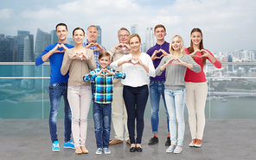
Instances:
[[[131,53],[132,51],[123,52],[120,50],[117,50],[116,48],[112,47],[108,51],[111,55],[111,62],[117,61],[119,58],[123,57],[125,54]],[[122,71],[122,66],[119,66],[116,71]],[[121,79],[114,79],[114,87],[123,87],[124,85],[121,83]]]

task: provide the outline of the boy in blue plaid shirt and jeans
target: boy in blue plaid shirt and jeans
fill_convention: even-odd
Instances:
[[[125,79],[125,73],[109,69],[111,55],[108,52],[99,53],[99,68],[86,74],[84,81],[95,82],[93,93],[93,120],[95,128],[95,137],[98,150],[96,154],[110,154],[108,150],[110,130],[111,130],[111,113],[112,113],[112,92],[113,79]]]

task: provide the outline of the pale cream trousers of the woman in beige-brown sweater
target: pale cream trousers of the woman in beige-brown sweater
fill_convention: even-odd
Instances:
[[[92,102],[91,86],[68,86],[67,100],[72,112],[74,146],[85,146],[87,115]]]

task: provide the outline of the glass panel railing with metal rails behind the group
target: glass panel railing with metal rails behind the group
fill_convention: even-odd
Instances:
[[[255,119],[256,63],[221,64],[220,70],[209,63],[205,67],[208,80],[206,118]],[[0,62],[0,118],[48,119],[49,76],[48,62],[41,66],[35,66],[35,62]],[[61,100],[58,118],[64,117],[63,110]],[[159,116],[166,118],[162,99]],[[150,101],[144,117],[150,118]],[[88,118],[93,118],[92,108]],[[188,118],[187,108],[185,118]]]

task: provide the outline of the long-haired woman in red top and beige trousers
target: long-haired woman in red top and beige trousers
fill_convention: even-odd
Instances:
[[[195,59],[195,62],[201,66],[202,71],[186,71],[185,82],[187,89],[187,108],[189,110],[189,127],[192,142],[189,146],[201,147],[202,135],[205,126],[205,102],[208,94],[208,85],[203,72],[203,67],[208,59],[216,68],[221,68],[221,63],[214,58],[214,55],[203,48],[202,31],[200,28],[194,28],[190,34],[190,47],[185,48],[185,52]],[[197,114],[197,121],[195,118]],[[197,130],[196,130],[197,129]]]

